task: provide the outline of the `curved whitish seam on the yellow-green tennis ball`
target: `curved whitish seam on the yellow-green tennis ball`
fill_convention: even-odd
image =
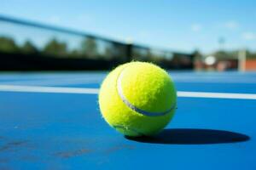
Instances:
[[[125,68],[127,68],[128,66],[126,66]],[[117,78],[117,91],[118,91],[118,94],[119,94],[119,98],[123,101],[123,103],[129,107],[132,111],[135,111],[139,114],[142,114],[143,116],[165,116],[167,115],[168,113],[170,113],[173,109],[176,108],[176,102],[174,104],[171,105],[171,107],[166,110],[166,111],[161,111],[161,112],[150,112],[150,111],[143,111],[139,108],[137,108],[136,105],[132,105],[130,103],[130,101],[128,99],[125,98],[125,95],[123,93],[123,89],[122,89],[122,84],[121,84],[121,80],[122,80],[122,77],[123,77],[123,72],[125,71],[125,68],[123,68],[123,70],[121,70],[119,72],[119,76]]]

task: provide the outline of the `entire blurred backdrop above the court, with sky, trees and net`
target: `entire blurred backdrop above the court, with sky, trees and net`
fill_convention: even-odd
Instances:
[[[1,0],[1,71],[256,71],[255,1]]]

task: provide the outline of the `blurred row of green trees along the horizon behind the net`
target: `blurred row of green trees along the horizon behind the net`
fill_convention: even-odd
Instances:
[[[166,53],[161,50],[154,50],[152,48],[143,48],[139,46],[132,46],[132,59],[150,61],[154,63],[176,62],[176,58],[172,57],[171,53]],[[21,53],[21,54],[44,54],[49,56],[59,57],[75,57],[75,58],[89,58],[89,59],[119,59],[125,61],[128,57],[128,48],[124,44],[118,42],[97,42],[95,37],[84,37],[80,47],[67,50],[67,43],[60,42],[56,38],[52,38],[47,42],[43,49],[37,48],[31,41],[26,40],[23,44],[16,44],[12,37],[0,37],[0,52],[4,53]],[[196,49],[193,53],[195,61],[203,61],[206,56],[212,55],[216,59],[237,59],[239,50],[225,51],[218,50],[212,54],[201,54]],[[256,59],[256,53],[247,50],[247,59]],[[171,56],[171,57],[170,57]]]

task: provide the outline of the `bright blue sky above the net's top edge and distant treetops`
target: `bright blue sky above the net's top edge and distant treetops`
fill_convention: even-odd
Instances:
[[[119,41],[210,53],[219,48],[256,51],[253,0],[1,0],[0,14],[65,26]]]

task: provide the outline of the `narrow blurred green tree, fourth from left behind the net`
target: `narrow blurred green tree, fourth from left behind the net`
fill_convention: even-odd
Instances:
[[[95,38],[86,37],[81,43],[81,53],[88,58],[96,58],[98,56],[97,44]]]

